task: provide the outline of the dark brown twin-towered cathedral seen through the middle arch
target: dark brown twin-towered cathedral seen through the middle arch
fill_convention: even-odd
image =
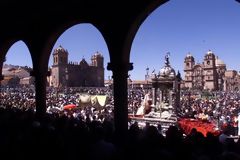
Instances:
[[[68,51],[62,46],[53,51],[50,86],[53,87],[103,87],[104,58],[96,52],[91,64],[83,58],[79,63],[68,62]]]

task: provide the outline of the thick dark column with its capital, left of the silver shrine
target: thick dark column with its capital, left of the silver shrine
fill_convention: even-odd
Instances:
[[[113,72],[114,124],[116,138],[124,140],[128,130],[128,71],[133,69],[132,63],[108,63],[108,70]],[[121,142],[119,142],[121,143]]]

